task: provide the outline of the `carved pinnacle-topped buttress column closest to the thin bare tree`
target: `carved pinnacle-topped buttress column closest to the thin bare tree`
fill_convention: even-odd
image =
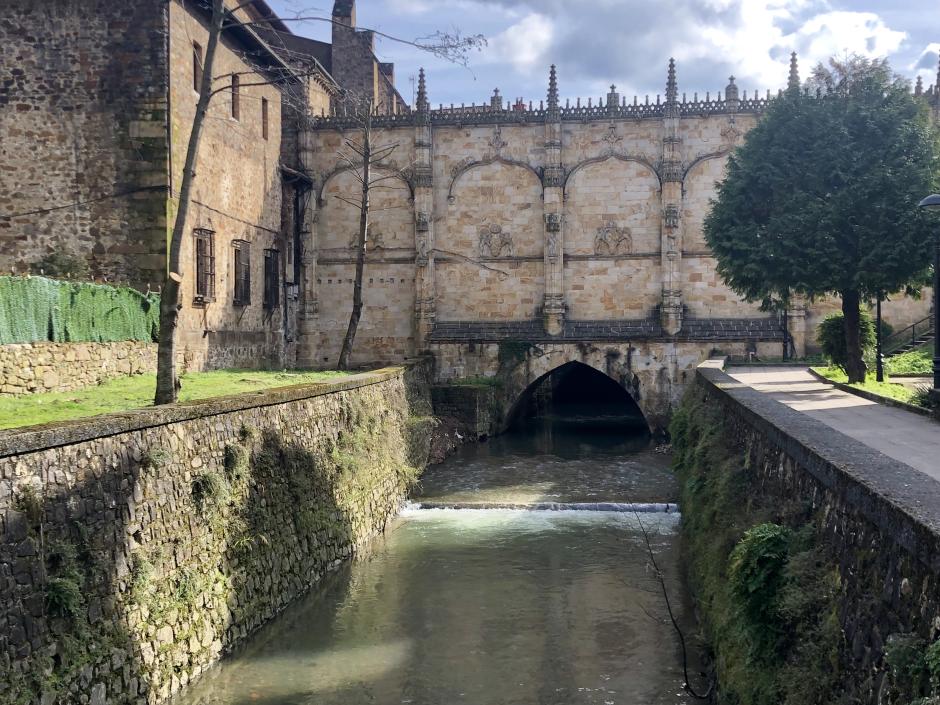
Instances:
[[[426,350],[434,327],[434,194],[431,172],[431,110],[424,69],[418,72],[415,99],[415,344]]]

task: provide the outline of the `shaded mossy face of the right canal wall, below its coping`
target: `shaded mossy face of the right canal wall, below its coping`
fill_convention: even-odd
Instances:
[[[718,702],[937,705],[940,627],[917,565],[705,390],[670,430]]]

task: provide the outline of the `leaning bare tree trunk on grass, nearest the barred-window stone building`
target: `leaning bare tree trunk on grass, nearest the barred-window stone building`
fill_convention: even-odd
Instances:
[[[179,312],[183,307],[180,299],[180,282],[183,272],[180,267],[180,249],[183,244],[183,228],[189,213],[189,200],[196,177],[196,156],[199,153],[199,137],[206,121],[209,99],[212,97],[212,64],[215,50],[222,33],[222,21],[225,18],[224,0],[212,0],[212,20],[209,25],[209,41],[206,45],[206,57],[202,68],[202,82],[199,85],[199,100],[196,103],[196,116],[193,118],[192,131],[189,133],[189,145],[186,148],[186,161],[183,165],[183,180],[180,183],[180,201],[173,223],[173,236],[170,238],[167,252],[167,272],[160,295],[160,334],[157,343],[157,389],[154,404],[173,404],[176,402],[180,383],[176,374],[176,329]],[[173,194],[170,194],[172,198]]]

